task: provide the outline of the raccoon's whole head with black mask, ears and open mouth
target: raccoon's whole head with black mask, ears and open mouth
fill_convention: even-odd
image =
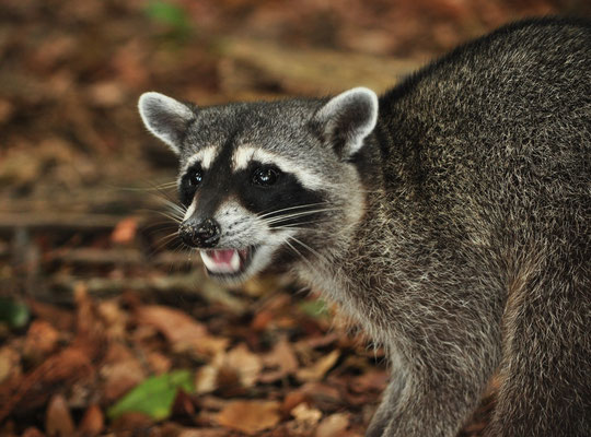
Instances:
[[[356,161],[378,117],[368,88],[210,107],[152,92],[139,111],[179,158],[178,234],[223,282],[329,261],[363,215]]]

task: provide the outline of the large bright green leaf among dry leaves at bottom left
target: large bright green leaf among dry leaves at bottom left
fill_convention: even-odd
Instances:
[[[190,371],[175,370],[150,377],[108,409],[107,416],[114,420],[124,413],[138,412],[147,414],[157,421],[166,418],[171,415],[178,390],[188,393],[195,391]]]

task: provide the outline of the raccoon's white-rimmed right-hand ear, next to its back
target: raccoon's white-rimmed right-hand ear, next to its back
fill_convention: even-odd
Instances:
[[[333,97],[314,116],[325,141],[333,144],[343,160],[348,160],[361,149],[376,120],[378,96],[366,87]]]

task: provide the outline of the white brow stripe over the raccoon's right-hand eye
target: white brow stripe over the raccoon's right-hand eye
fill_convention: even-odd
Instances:
[[[327,187],[327,182],[323,180],[322,177],[313,172],[301,168],[301,166],[298,166],[293,161],[250,145],[242,145],[235,150],[232,156],[232,170],[237,172],[244,169],[252,161],[257,161],[263,164],[273,164],[281,172],[296,175],[300,184],[305,188],[317,190]]]

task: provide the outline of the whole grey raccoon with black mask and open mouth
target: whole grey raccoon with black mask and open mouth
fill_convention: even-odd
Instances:
[[[537,19],[378,97],[139,110],[179,158],[178,234],[230,284],[291,271],[386,351],[367,436],[591,436],[591,24]]]

